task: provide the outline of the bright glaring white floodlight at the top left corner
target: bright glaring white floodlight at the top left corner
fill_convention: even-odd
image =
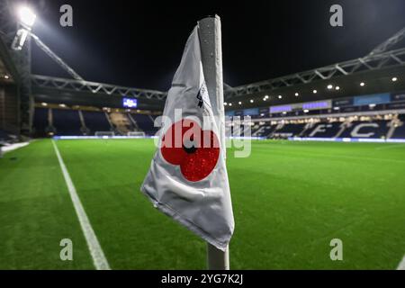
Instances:
[[[17,31],[17,34],[14,37],[12,49],[21,50],[23,49],[25,40],[27,40],[27,37],[31,32],[31,28],[35,23],[37,15],[34,14],[28,6],[19,7],[17,14],[22,27]]]

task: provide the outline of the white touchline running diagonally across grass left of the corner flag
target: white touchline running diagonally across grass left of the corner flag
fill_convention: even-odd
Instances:
[[[55,141],[52,140],[53,148],[55,149],[55,153],[58,157],[59,166],[62,170],[62,174],[65,177],[65,182],[67,184],[67,190],[69,191],[70,198],[72,199],[73,206],[75,207],[77,218],[80,222],[80,226],[83,230],[83,234],[85,234],[85,241],[87,242],[87,246],[90,250],[90,254],[93,257],[93,262],[95,269],[97,270],[111,270],[107,259],[104,256],[103,249],[98,242],[97,237],[94,234],[94,230],[90,221],[87,218],[87,214],[85,214],[85,209],[83,208],[82,202],[80,202],[80,198],[76,193],[75,185],[70,178],[69,173],[67,172],[67,168],[65,163],[63,162],[62,157],[60,156],[58,146],[55,144]]]

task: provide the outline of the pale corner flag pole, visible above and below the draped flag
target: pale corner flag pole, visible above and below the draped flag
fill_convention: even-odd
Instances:
[[[214,116],[221,121],[223,128],[223,80],[222,80],[222,46],[220,36],[220,17],[207,17],[199,21],[199,36],[202,53],[202,69],[210,95]],[[220,129],[221,147],[225,148],[225,130]],[[223,154],[225,156],[225,154]],[[207,266],[209,270],[229,270],[229,248],[221,251],[207,243]]]

